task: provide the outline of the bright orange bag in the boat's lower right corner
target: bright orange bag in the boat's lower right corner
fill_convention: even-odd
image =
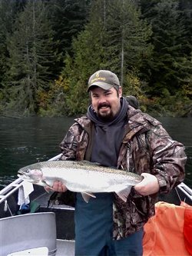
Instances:
[[[192,255],[192,207],[160,201],[155,211],[144,225],[143,255]]]

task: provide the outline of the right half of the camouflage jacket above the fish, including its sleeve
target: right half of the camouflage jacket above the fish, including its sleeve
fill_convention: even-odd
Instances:
[[[170,138],[160,121],[137,111],[129,121],[118,166],[141,175],[155,175],[160,192],[167,193],[184,181],[187,157],[184,145]]]

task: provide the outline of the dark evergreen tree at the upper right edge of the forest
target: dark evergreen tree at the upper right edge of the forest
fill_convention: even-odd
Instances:
[[[153,30],[153,61],[149,63],[151,96],[176,94],[190,80],[191,60],[184,18],[179,2],[141,1],[144,18]],[[165,92],[167,91],[167,92]]]

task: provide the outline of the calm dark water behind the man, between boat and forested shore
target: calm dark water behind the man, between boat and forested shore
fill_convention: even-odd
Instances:
[[[192,118],[157,118],[172,138],[185,145],[185,183],[192,188]],[[59,143],[74,118],[0,118],[0,185],[17,178],[18,168],[60,153]]]

